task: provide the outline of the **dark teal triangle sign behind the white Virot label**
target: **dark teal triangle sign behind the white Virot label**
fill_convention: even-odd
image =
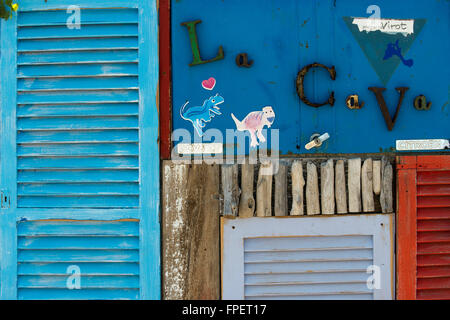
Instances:
[[[414,32],[409,34],[380,30],[360,31],[353,17],[343,19],[384,85],[389,82],[400,64],[405,68],[414,66],[414,59],[406,54],[425,25],[426,19],[414,19]]]

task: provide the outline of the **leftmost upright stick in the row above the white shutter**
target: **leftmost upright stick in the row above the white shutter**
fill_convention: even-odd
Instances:
[[[223,215],[237,216],[239,208],[239,185],[237,164],[222,165]]]

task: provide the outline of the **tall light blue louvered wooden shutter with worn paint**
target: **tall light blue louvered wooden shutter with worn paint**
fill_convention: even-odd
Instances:
[[[156,19],[156,1],[23,0],[2,22],[3,297],[160,297]]]

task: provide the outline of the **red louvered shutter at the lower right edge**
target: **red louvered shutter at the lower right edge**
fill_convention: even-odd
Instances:
[[[450,299],[450,156],[397,158],[397,299]]]

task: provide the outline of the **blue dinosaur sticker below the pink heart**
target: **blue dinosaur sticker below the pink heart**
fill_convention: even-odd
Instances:
[[[221,115],[219,104],[224,102],[224,98],[216,94],[205,100],[201,106],[187,107],[189,101],[181,107],[180,116],[186,121],[190,121],[197,134],[202,137],[206,122],[210,122],[216,115]]]

